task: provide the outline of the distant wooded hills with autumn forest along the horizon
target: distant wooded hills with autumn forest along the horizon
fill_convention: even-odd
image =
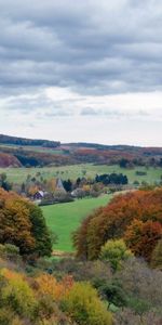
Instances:
[[[10,166],[66,166],[76,164],[162,166],[162,147],[67,143],[0,135],[0,153],[11,155]],[[12,162],[13,160],[13,162]],[[16,161],[16,164],[15,164]],[[0,160],[0,167],[9,167]]]

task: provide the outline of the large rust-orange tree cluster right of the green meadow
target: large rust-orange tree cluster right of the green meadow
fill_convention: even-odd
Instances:
[[[78,257],[96,259],[108,239],[123,238],[137,257],[151,261],[162,236],[162,188],[116,196],[83,220],[73,235]]]

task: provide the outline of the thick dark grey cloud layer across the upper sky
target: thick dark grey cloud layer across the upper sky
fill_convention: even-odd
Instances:
[[[161,90],[161,16],[158,0],[0,0],[0,93]]]

